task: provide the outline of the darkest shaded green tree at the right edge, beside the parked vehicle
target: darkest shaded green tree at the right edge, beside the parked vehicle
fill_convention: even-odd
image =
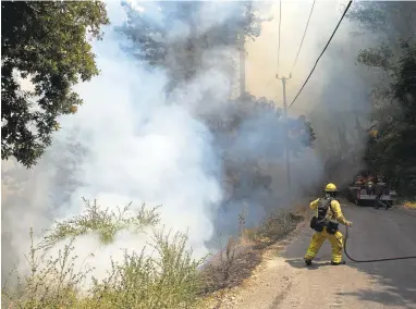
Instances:
[[[379,111],[377,136],[365,160],[379,173],[397,180],[402,193],[416,189],[416,44],[404,47],[390,86],[391,101]]]

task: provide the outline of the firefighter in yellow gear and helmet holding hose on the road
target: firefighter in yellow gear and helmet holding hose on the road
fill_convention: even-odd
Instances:
[[[325,188],[325,196],[310,203],[310,208],[317,213],[310,221],[310,227],[316,231],[309,248],[305,255],[306,265],[310,265],[313,259],[318,254],[325,240],[329,240],[332,247],[331,264],[344,264],[342,261],[343,236],[338,228],[339,223],[352,226],[352,222],[345,220],[341,211],[340,202],[335,199],[337,186],[328,184]]]

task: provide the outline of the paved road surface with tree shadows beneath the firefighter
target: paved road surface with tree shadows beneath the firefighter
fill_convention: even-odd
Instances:
[[[416,211],[342,207],[354,222],[347,246],[353,258],[416,255]],[[303,256],[311,234],[305,226],[283,251],[270,254],[227,307],[416,309],[416,260],[355,263],[346,259],[345,265],[332,267],[327,243],[314,267],[306,268]]]

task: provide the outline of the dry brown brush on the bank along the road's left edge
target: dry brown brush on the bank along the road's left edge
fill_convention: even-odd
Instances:
[[[212,309],[235,302],[236,291],[256,272],[265,259],[281,249],[304,222],[305,211],[271,214],[257,228],[243,228],[240,242],[230,239],[223,252],[203,271],[203,297]]]

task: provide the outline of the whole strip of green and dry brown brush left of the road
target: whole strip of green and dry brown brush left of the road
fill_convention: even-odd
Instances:
[[[250,275],[261,261],[261,251],[256,250],[254,244],[265,237],[270,244],[270,239],[287,234],[297,219],[282,212],[254,231],[244,226],[244,215],[241,215],[238,237],[230,238],[219,260],[207,262],[207,257],[193,258],[187,235],[151,228],[160,221],[157,208],[147,210],[142,206],[133,212],[127,205],[112,212],[97,201],[85,200],[83,214],[56,223],[39,244],[35,244],[30,230],[30,248],[25,256],[29,271],[24,274],[17,269],[12,271],[11,281],[2,288],[2,307],[203,308],[205,296],[235,286]],[[94,277],[94,268],[86,260],[81,268],[76,267],[81,259],[75,254],[77,237],[98,233],[101,243],[109,245],[119,231],[145,233],[145,227],[152,230],[148,244],[151,255],[145,254],[145,248],[140,252],[125,250],[124,259],[112,260],[107,276],[101,280]],[[247,231],[253,234],[250,246],[242,242],[247,238]],[[66,245],[51,256],[50,249],[62,240],[68,240]],[[91,284],[86,287],[87,280]]]

